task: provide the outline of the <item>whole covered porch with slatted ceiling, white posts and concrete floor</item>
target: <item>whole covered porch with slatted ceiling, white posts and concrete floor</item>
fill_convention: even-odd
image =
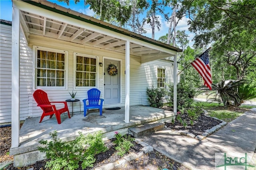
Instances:
[[[24,35],[23,40],[20,40],[20,32]],[[21,41],[24,43],[24,47],[20,45]],[[26,45],[28,46],[27,48],[25,48]],[[36,114],[41,113],[41,110],[36,107],[36,103],[32,97],[34,90],[38,88],[36,85],[37,74],[35,52],[35,49],[38,46],[65,51],[65,85],[61,89],[56,87],[55,89],[46,89],[50,91],[52,95],[51,97],[56,100],[65,100],[68,91],[73,89],[78,91],[78,98],[84,99],[84,91],[86,91],[86,88],[84,87],[84,89],[80,89],[80,87],[76,87],[75,83],[75,53],[95,55],[95,58],[98,58],[96,60],[96,87],[102,91],[102,94],[104,94],[104,69],[103,67],[98,67],[98,65],[104,63],[105,58],[110,57],[122,61],[121,63],[123,64],[119,70],[121,76],[121,81],[119,83],[121,89],[120,103],[115,105],[122,107],[122,109],[110,112],[111,114],[119,112],[119,114],[109,116],[111,115],[110,113],[103,113],[101,118],[97,119],[97,121],[92,119],[91,122],[87,119],[90,119],[90,117],[94,115],[92,113],[86,118],[84,118],[82,114],[74,115],[70,120],[66,120],[66,117],[62,116],[63,120],[61,125],[55,123],[56,119],[43,120],[42,123],[38,124],[40,118],[37,117],[38,115]],[[138,93],[140,89],[136,89],[140,86],[137,84],[138,81],[130,81],[130,77],[132,77],[130,76],[130,72],[131,74],[134,74],[137,72],[136,69],[138,69],[138,66],[166,57],[173,57],[172,79],[174,83],[174,113],[176,113],[176,55],[177,52],[180,51],[181,50],[176,47],[146,38],[145,36],[113,26],[82,13],[63,8],[48,1],[13,1],[11,154],[16,155],[23,151],[32,152],[34,150],[33,148],[36,147],[35,143],[41,138],[45,139],[49,132],[54,129],[59,131],[61,138],[63,137],[65,140],[72,140],[74,136],[71,134],[80,130],[87,130],[86,132],[102,130],[106,133],[146,123],[146,121],[155,121],[154,119],[158,117],[156,115],[163,114],[161,113],[163,112],[162,110],[139,111],[137,106],[130,107],[130,101],[136,99],[136,97],[138,100],[135,104],[140,104],[140,94]],[[25,57],[21,58],[20,53],[22,53],[22,57]],[[108,55],[106,53],[108,53]],[[133,59],[132,62],[137,65],[130,64],[130,59]],[[21,63],[24,64],[24,66],[21,66]],[[133,67],[133,70],[130,71],[131,67]],[[26,71],[28,71],[28,73]],[[148,76],[151,74],[152,73],[148,72]],[[138,79],[141,79],[141,77]],[[152,83],[150,78],[147,80]],[[24,85],[21,83],[22,81],[25,82]],[[27,83],[26,81],[29,82]],[[131,99],[130,86],[132,85],[136,88],[134,88],[132,93],[132,97],[134,98]],[[21,97],[24,97],[23,101]],[[132,105],[135,104],[133,103]],[[112,107],[114,107],[114,105]],[[132,108],[134,108],[134,111],[130,110]],[[28,117],[32,118],[27,119],[22,129],[19,130],[22,109],[25,110],[24,112],[26,112],[26,114],[28,113]],[[106,115],[108,116],[104,118]],[[173,116],[174,114],[171,113],[171,115]],[[76,120],[76,117],[80,118]],[[95,117],[98,117],[98,113],[95,113]],[[166,117],[166,115],[164,114],[160,117]],[[102,122],[98,120],[102,120]],[[47,125],[44,127],[44,124]],[[92,125],[92,127],[89,125]]]

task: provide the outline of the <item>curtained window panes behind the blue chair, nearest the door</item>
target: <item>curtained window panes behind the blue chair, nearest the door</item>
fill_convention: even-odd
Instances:
[[[76,55],[76,87],[96,86],[96,58]]]

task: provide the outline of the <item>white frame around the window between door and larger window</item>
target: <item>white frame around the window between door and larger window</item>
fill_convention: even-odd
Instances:
[[[76,86],[76,56],[81,56],[81,57],[88,57],[88,58],[94,58],[96,59],[96,77],[95,77],[95,86]],[[76,53],[74,52],[74,74],[73,74],[73,82],[74,82],[74,89],[91,89],[91,88],[97,88],[98,89],[98,77],[99,77],[99,63],[98,63],[98,56],[95,55],[89,55],[89,54],[84,54],[84,53]]]

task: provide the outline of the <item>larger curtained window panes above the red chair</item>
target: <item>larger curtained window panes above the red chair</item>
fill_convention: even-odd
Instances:
[[[64,87],[65,53],[36,50],[36,85]]]

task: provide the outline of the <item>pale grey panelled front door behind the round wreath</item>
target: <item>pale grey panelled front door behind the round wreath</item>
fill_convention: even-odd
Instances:
[[[117,75],[110,75],[108,67],[114,64]],[[104,104],[120,103],[120,61],[104,59]]]

